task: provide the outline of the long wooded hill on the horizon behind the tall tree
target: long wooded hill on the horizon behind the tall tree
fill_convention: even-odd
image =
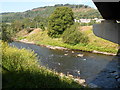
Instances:
[[[32,10],[27,10],[25,12],[0,13],[0,16],[2,16],[2,22],[12,22],[14,20],[21,20],[24,18],[34,18],[36,16],[48,18],[49,15],[55,10],[56,7],[61,7],[61,6],[67,6],[72,8],[75,19],[95,18],[95,17],[102,18],[98,10],[82,4],[80,5],[56,4],[54,6],[33,8]]]

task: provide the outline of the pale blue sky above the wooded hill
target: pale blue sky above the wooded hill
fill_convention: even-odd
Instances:
[[[55,4],[85,4],[96,8],[92,0],[0,0],[1,12],[23,12],[42,6]],[[0,13],[1,13],[0,12]]]

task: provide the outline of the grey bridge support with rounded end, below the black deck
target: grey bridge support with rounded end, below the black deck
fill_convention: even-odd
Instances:
[[[101,24],[94,24],[93,33],[120,45],[120,23],[115,20],[104,20]]]

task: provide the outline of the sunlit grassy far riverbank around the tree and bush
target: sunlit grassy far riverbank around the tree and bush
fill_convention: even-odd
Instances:
[[[25,36],[20,36],[21,33],[19,33],[18,40],[27,39],[28,41],[34,41],[36,44],[60,46],[69,49],[78,49],[84,51],[96,50],[100,52],[108,52],[114,54],[117,53],[118,45],[95,36],[92,32],[92,26],[81,26],[79,27],[79,31],[81,31],[89,37],[89,43],[87,45],[82,43],[79,43],[77,45],[63,43],[62,38],[50,38],[47,35],[47,30],[42,31],[40,29],[35,29],[34,31],[26,34]]]

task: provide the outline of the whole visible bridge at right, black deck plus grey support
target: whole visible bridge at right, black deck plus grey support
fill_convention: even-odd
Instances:
[[[120,44],[120,0],[93,0],[105,21],[93,25],[96,36]],[[118,21],[118,22],[117,22]]]

